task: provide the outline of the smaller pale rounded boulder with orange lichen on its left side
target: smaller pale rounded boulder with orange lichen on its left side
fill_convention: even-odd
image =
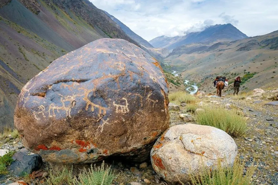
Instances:
[[[156,173],[168,182],[187,182],[202,165],[232,166],[237,145],[223,130],[195,124],[175,125],[166,130],[151,150]]]

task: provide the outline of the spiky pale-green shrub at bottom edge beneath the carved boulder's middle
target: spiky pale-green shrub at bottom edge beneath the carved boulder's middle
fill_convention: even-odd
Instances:
[[[83,173],[79,174],[79,179],[74,178],[75,185],[111,185],[115,175],[111,173],[111,167],[105,167],[104,161],[100,167],[91,164],[88,171],[84,168]]]

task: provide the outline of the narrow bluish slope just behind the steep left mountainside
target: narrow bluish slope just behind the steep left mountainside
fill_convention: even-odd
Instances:
[[[135,40],[137,43],[143,45],[144,47],[153,47],[148,41],[134,33],[129,27],[127,27],[124,23],[120,22],[117,18],[115,18],[113,15],[108,14],[106,11],[103,10],[104,13],[106,13],[115,23],[117,23],[121,29],[133,40]]]

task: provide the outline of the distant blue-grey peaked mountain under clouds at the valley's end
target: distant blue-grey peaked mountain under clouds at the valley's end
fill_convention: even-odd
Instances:
[[[191,32],[184,36],[166,37],[160,36],[150,40],[154,47],[165,47],[172,50],[178,46],[190,43],[216,43],[221,41],[233,41],[244,39],[243,34],[236,27],[229,24],[217,24],[207,27],[204,31]]]

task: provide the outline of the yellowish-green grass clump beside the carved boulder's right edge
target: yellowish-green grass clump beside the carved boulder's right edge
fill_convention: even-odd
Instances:
[[[195,97],[191,94],[184,92],[184,91],[177,91],[173,92],[172,94],[168,95],[169,101],[175,104],[187,103],[192,104],[195,103]]]

